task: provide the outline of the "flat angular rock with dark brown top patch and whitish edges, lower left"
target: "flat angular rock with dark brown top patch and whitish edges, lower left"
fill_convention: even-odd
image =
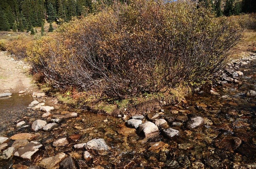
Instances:
[[[14,156],[18,156],[24,159],[31,160],[31,157],[39,150],[43,145],[36,141],[31,141],[24,147],[21,147],[14,153]]]

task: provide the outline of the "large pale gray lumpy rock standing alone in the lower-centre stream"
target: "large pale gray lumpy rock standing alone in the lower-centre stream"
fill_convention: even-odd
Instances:
[[[84,145],[84,148],[89,152],[100,155],[106,155],[109,152],[109,150],[111,150],[111,148],[102,138],[92,139],[91,141],[88,141]]]

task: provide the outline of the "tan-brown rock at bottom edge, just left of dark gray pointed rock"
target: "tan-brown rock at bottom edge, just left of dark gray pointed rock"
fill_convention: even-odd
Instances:
[[[59,163],[66,157],[65,153],[59,153],[56,156],[52,156],[49,158],[44,158],[40,163],[39,166],[45,169],[57,169],[59,168]]]

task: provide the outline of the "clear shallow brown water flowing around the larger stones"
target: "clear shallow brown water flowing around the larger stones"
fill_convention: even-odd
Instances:
[[[0,166],[9,168],[13,164],[37,165],[43,158],[64,152],[75,158],[78,167],[78,161],[83,160],[83,151],[75,150],[73,145],[103,138],[112,148],[111,152],[105,156],[93,156],[86,162],[88,167],[256,168],[256,99],[246,97],[249,90],[256,90],[255,63],[251,61],[251,64],[239,67],[238,70],[244,73],[244,76],[239,77],[243,82],[241,85],[207,85],[200,89],[203,91],[201,94],[196,92],[188,96],[186,103],[163,107],[164,118],[174,117],[168,125],[179,130],[180,136],[170,139],[160,133],[147,139],[139,136],[136,129],[128,128],[121,118],[69,110],[77,112],[78,117],[63,120],[50,132],[36,132],[38,135],[34,140],[44,147],[32,161],[13,157],[0,161]],[[220,95],[210,94],[212,87]],[[11,137],[21,132],[35,133],[30,128],[16,128],[14,123],[20,118],[28,124],[36,119],[43,119],[40,111],[24,109],[32,100],[28,95],[22,97],[17,94],[0,100],[1,136]],[[62,114],[64,110],[67,108],[60,106],[52,114]],[[178,116],[184,120],[175,120]],[[193,116],[203,117],[204,125],[189,130],[186,128],[186,121]],[[46,118],[46,121],[51,119]],[[103,122],[106,119],[108,121]],[[72,135],[79,139],[71,140],[69,137]],[[52,142],[59,136],[69,138],[68,145],[53,147]],[[236,142],[236,137],[241,143]],[[12,142],[8,142],[9,146]]]

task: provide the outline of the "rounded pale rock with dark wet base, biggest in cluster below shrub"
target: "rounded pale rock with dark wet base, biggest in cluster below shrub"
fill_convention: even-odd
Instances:
[[[138,129],[139,134],[144,135],[145,137],[152,137],[159,134],[158,127],[150,121],[141,124]]]

